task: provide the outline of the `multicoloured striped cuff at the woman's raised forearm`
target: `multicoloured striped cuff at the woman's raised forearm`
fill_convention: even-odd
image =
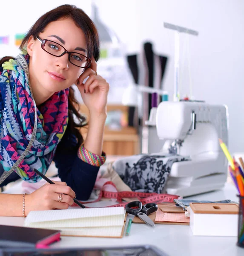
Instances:
[[[106,154],[103,152],[102,155],[93,154],[86,150],[83,145],[80,145],[78,149],[78,157],[85,163],[89,163],[92,166],[101,166],[106,161]]]

